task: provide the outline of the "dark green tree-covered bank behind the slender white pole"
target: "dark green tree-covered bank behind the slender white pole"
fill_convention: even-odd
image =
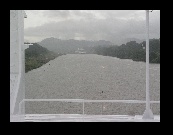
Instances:
[[[133,61],[146,61],[146,42],[136,43],[130,41],[121,46],[97,46],[95,53],[98,55],[112,56]],[[160,63],[160,39],[151,39],[149,46],[150,63]]]

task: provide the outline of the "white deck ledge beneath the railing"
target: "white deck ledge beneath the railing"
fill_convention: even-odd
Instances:
[[[24,117],[23,117],[24,118]],[[26,114],[10,117],[11,122],[160,122],[160,115],[153,120],[144,120],[142,115],[81,115],[81,114]]]

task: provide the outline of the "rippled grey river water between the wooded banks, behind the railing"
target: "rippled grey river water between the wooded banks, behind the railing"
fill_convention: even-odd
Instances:
[[[68,54],[25,75],[27,99],[145,100],[145,63]],[[150,98],[160,100],[160,64],[150,64]],[[160,114],[160,104],[151,104]],[[142,115],[145,104],[85,103],[85,114]],[[82,113],[81,103],[26,102],[26,114]]]

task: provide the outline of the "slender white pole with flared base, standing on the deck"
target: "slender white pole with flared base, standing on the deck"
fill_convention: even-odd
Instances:
[[[150,109],[149,93],[149,10],[146,10],[146,110],[143,114],[143,119],[154,119]]]

